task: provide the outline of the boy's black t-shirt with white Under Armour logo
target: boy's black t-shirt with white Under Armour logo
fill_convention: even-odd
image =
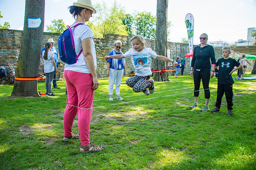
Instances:
[[[232,58],[219,59],[216,62],[216,66],[219,66],[218,84],[230,85],[235,83],[229,73],[234,69],[235,66],[238,67],[239,65],[240,63]]]

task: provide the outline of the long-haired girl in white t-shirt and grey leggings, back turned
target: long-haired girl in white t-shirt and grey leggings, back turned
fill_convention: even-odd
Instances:
[[[52,44],[47,42],[45,44],[45,50],[42,52],[43,61],[44,61],[44,73],[46,77],[45,86],[46,86],[46,96],[55,96],[52,93],[52,81],[54,73],[57,73],[57,67],[54,61],[53,52],[51,52]]]

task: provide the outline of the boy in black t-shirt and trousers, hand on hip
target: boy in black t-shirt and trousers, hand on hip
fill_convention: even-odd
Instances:
[[[231,74],[240,69],[242,65],[237,62],[235,59],[229,58],[231,54],[230,47],[222,48],[223,58],[219,59],[216,62],[216,68],[219,70],[218,73],[218,88],[217,88],[217,99],[216,99],[216,108],[212,109],[212,113],[220,111],[221,99],[225,93],[227,105],[228,105],[228,115],[233,115],[232,106],[233,106],[233,84],[235,83]],[[233,69],[234,67],[237,67]]]

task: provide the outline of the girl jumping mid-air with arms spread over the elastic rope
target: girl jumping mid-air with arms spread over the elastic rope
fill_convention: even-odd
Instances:
[[[127,51],[125,54],[118,54],[113,56],[105,56],[104,59],[123,59],[131,58],[133,67],[135,69],[135,76],[130,77],[126,80],[126,85],[132,87],[133,91],[140,92],[143,91],[145,95],[152,94],[155,91],[153,79],[150,79],[151,70],[151,57],[156,58],[166,62],[172,62],[173,65],[177,66],[177,62],[168,59],[165,56],[159,56],[150,48],[146,48],[146,42],[144,38],[136,35],[131,38],[132,49]],[[148,88],[148,89],[147,89]]]

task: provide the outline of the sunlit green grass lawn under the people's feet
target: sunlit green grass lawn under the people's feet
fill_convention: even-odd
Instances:
[[[199,107],[191,110],[193,79],[189,75],[169,78],[169,82],[156,82],[155,93],[145,96],[125,85],[125,77],[124,101],[112,102],[98,100],[108,98],[108,80],[99,80],[93,106],[123,104],[93,109],[90,140],[106,146],[96,153],[80,153],[79,139],[62,140],[64,81],[57,82],[60,89],[53,89],[55,97],[10,98],[13,85],[0,86],[0,169],[255,170],[256,80],[235,80],[234,115],[229,116],[225,95],[221,111],[213,114],[200,111],[204,105],[200,91]],[[38,90],[45,92],[45,84],[39,83]],[[210,80],[210,91],[211,110],[216,78]],[[73,132],[78,133],[77,117]]]

